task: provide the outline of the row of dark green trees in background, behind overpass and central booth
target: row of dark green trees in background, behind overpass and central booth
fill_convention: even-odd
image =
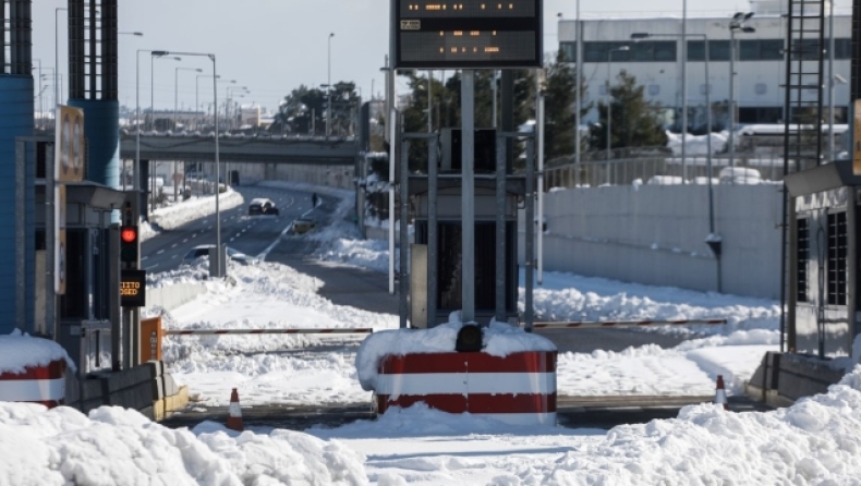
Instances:
[[[440,71],[435,71],[440,73]],[[409,105],[402,110],[403,131],[426,132],[428,114],[430,129],[460,126],[461,76],[452,71],[448,77],[429,76],[427,71],[400,71],[407,78],[411,96]],[[545,62],[544,80],[536,84],[534,70],[514,70],[513,78],[513,120],[514,126],[523,125],[535,119],[535,93],[538,87],[545,98],[545,157],[549,160],[570,156],[574,153],[578,136],[575,123],[575,89],[585,99],[590,88],[583,76],[578,76],[573,64],[566,62],[562,52],[548,58]],[[494,126],[494,96],[497,97],[497,123],[499,126],[501,106],[500,80],[493,70],[475,71],[475,126]],[[605,82],[606,83],[606,82]],[[494,89],[496,84],[497,89]],[[597,123],[589,127],[586,136],[580,136],[581,150],[603,150],[607,146],[609,135],[614,148],[664,146],[667,143],[664,121],[659,107],[646,99],[644,86],[639,85],[633,75],[621,71],[610,86],[609,105],[607,97],[581,105],[581,117],[593,108],[597,110]],[[606,93],[606,92],[605,92]],[[430,97],[428,113],[428,96]],[[326,134],[326,122],[329,116],[328,101],[331,99],[332,135],[352,134],[356,118],[360,96],[355,83],[339,82],[325,89],[301,85],[287,95],[270,127],[274,132],[298,134]],[[610,120],[610,133],[607,133],[607,120]],[[379,120],[385,124],[385,120]],[[424,158],[426,149],[423,144],[411,146],[415,158]],[[411,157],[411,159],[414,157]]]

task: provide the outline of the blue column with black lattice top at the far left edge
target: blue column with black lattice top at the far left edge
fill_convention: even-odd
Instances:
[[[0,0],[0,335],[26,328],[16,321],[15,241],[16,230],[32,233],[33,227],[16,228],[15,203],[24,187],[15,183],[15,138],[32,136],[34,129],[32,19],[31,0]]]

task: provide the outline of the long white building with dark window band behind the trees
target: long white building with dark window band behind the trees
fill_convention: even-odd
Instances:
[[[689,126],[704,126],[706,89],[713,107],[730,101],[730,62],[735,52],[736,86],[733,100],[738,107],[737,123],[783,123],[786,78],[784,45],[787,21],[781,15],[785,2],[752,2],[756,10],[743,22],[744,27],[730,29],[731,15],[725,17],[693,17],[687,21],[687,35],[682,37],[682,20],[659,19],[581,19],[582,25],[582,75],[587,84],[582,100],[596,105],[606,102],[607,81],[615,85],[617,75],[624,70],[644,87],[650,101],[662,107],[667,124],[679,120],[682,102],[682,39],[688,41],[687,86]],[[851,11],[835,8],[834,15],[834,107],[835,123],[847,123],[849,113],[850,58],[851,58]],[[826,45],[830,41],[829,20],[825,19]],[[577,21],[563,19],[558,25],[559,49],[566,59],[577,61]],[[648,34],[647,38],[643,34]],[[735,37],[735,49],[730,38]],[[708,41],[708,81],[706,81],[705,39]],[[829,58],[825,54],[824,83],[828,86]],[[828,90],[823,102],[829,106]],[[726,113],[726,110],[724,110]],[[827,117],[827,114],[826,114]],[[597,119],[591,110],[583,123]],[[715,130],[726,120],[715,112]]]

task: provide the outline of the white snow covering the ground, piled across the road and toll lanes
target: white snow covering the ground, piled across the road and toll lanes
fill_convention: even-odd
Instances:
[[[350,193],[330,190],[339,194],[344,199],[339,211],[349,210]],[[201,210],[195,204],[187,208]],[[187,218],[182,212],[174,207],[161,219]],[[332,242],[316,255],[331,264],[380,268],[375,262],[386,259],[383,245],[344,234],[328,228],[308,236]],[[375,369],[368,363],[379,356],[378,343],[402,338],[397,316],[332,305],[317,294],[314,278],[279,264],[231,264],[235,285],[206,280],[206,274],[201,262],[150,275],[148,285],[196,283],[208,292],[174,311],[144,314],[161,314],[169,329],[369,326],[375,332],[354,337],[354,345],[318,352],[303,352],[330,343],[317,335],[168,337],[165,362],[174,379],[190,387],[192,406],[227,405],[231,388],[238,389],[244,410],[264,403],[369,402],[366,387]],[[778,349],[775,301],[547,272],[535,306],[538,318],[728,321],[698,329],[702,336],[672,349],[561,353],[560,396],[714,396],[717,375],[732,396],[741,393],[763,354]],[[452,320],[449,326],[459,326]],[[411,353],[453,348],[451,332],[427,336],[424,344],[403,338],[403,347]],[[509,330],[514,341],[523,336]],[[490,338],[497,344],[505,339],[486,335],[486,342]],[[24,343],[26,353],[11,352]],[[52,347],[48,343],[0,337],[0,372],[57,357],[56,349],[33,351]],[[506,347],[495,347],[500,349]],[[240,433],[218,422],[169,429],[119,408],[84,415],[66,406],[0,402],[0,485],[857,485],[861,367],[848,360],[837,364],[848,372],[839,385],[786,409],[737,413],[702,403],[674,418],[611,429],[514,426],[414,405],[336,428],[248,427]]]

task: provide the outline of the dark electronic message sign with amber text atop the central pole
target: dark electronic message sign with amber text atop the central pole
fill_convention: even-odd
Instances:
[[[396,69],[542,66],[542,0],[392,0]]]

